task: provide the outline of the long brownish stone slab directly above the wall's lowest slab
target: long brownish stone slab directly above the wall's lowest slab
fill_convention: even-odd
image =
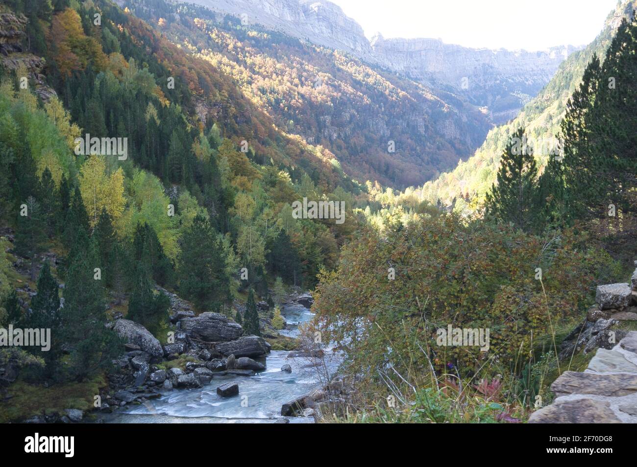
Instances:
[[[551,384],[551,390],[557,397],[567,394],[627,396],[637,393],[637,373],[564,372]]]

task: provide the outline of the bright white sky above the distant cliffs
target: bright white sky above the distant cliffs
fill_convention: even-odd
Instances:
[[[371,38],[440,38],[467,47],[587,45],[617,0],[330,0]]]

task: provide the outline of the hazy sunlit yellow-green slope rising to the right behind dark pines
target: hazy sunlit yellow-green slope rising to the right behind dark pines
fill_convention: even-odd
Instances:
[[[426,183],[422,188],[422,199],[434,203],[440,200],[447,205],[454,198],[461,197],[473,197],[479,202],[496,178],[501,153],[508,137],[519,127],[524,127],[527,136],[536,144],[550,142],[559,132],[559,123],[564,116],[566,102],[573,90],[578,87],[586,65],[594,54],[603,57],[622,18],[632,18],[636,7],[637,2],[634,0],[622,2],[608,15],[605,26],[597,38],[585,49],[570,55],[550,83],[524,106],[517,118],[491,130],[475,155],[460,162],[454,171]],[[536,151],[536,158],[541,164],[546,162],[547,157],[546,151]],[[464,209],[464,203],[461,204],[461,209]]]

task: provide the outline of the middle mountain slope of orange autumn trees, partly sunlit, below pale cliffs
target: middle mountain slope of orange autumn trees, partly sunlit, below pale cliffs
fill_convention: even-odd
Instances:
[[[468,157],[490,127],[485,113],[461,97],[338,50],[242,25],[238,18],[194,5],[122,4],[176,45],[232,76],[279,128],[326,148],[359,181],[423,183]]]

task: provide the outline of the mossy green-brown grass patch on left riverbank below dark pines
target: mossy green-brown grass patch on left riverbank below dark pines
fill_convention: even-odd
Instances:
[[[85,382],[44,387],[16,381],[8,388],[9,400],[0,403],[0,423],[24,421],[35,415],[62,414],[66,408],[93,408],[94,397],[106,386],[104,375]]]

